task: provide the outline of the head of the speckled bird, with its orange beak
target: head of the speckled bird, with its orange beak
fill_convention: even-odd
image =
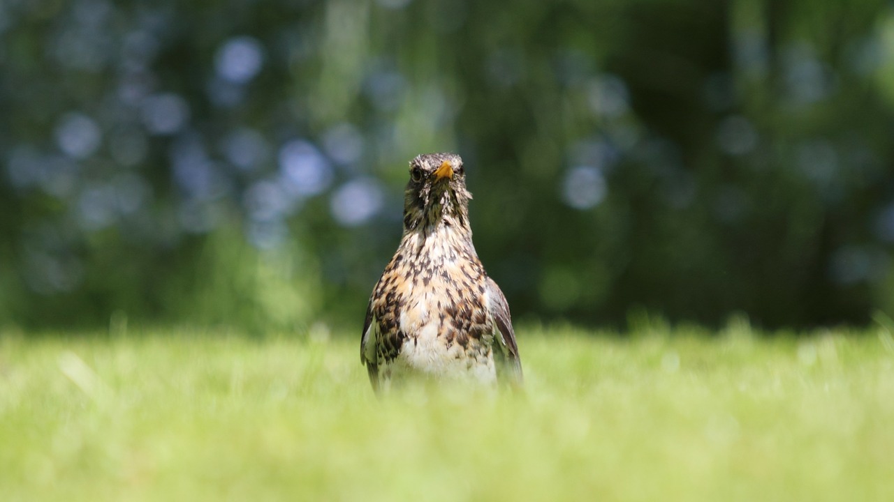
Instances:
[[[466,172],[460,155],[418,155],[409,163],[404,193],[403,228],[426,230],[439,224],[468,230]]]

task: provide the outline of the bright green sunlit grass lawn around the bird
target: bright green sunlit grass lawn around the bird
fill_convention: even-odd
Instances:
[[[525,396],[382,401],[355,337],[2,332],[0,499],[894,499],[884,328],[519,332]]]

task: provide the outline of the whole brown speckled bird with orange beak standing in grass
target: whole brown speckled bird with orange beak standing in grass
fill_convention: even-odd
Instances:
[[[472,244],[460,155],[409,162],[401,243],[373,288],[360,339],[376,394],[407,381],[521,389],[509,304]]]

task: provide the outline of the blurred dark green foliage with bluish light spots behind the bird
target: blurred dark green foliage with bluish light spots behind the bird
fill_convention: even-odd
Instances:
[[[894,311],[881,0],[0,0],[0,325],[359,330],[455,151],[517,321]]]

